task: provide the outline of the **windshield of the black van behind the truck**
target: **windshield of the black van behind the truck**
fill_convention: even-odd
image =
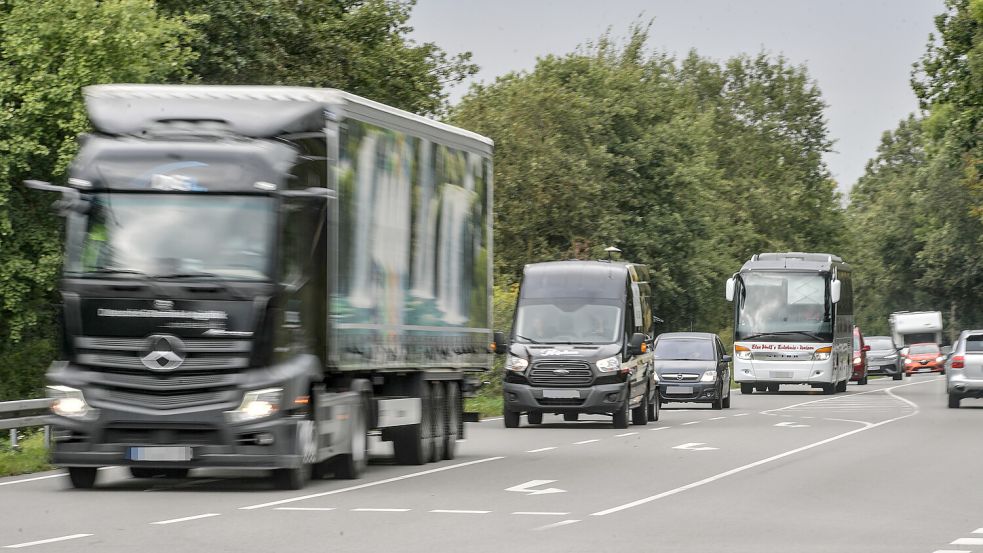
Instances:
[[[622,318],[617,305],[525,301],[516,310],[515,337],[519,342],[610,344],[618,341]]]

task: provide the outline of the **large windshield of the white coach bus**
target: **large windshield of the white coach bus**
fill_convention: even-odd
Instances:
[[[826,278],[816,273],[742,275],[735,302],[737,340],[832,342]]]

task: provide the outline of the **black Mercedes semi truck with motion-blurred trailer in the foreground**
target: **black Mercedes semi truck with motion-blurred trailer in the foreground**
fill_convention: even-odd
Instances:
[[[356,478],[452,459],[490,368],[492,141],[339,90],[84,89],[55,464]]]

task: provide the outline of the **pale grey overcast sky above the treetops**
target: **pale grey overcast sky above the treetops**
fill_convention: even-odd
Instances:
[[[486,83],[608,29],[623,38],[640,18],[655,18],[649,46],[677,56],[691,48],[717,61],[783,54],[805,64],[822,90],[836,140],[826,163],[846,190],[881,134],[917,109],[911,64],[943,11],[943,0],[418,0],[410,25],[417,42],[472,52],[475,80]],[[451,90],[451,101],[466,91]]]

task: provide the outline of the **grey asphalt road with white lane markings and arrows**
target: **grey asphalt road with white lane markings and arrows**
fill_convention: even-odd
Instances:
[[[735,392],[609,418],[468,426],[453,461],[375,444],[360,480],[272,489],[248,472],[0,479],[0,548],[36,551],[983,552],[983,400],[944,377]]]

